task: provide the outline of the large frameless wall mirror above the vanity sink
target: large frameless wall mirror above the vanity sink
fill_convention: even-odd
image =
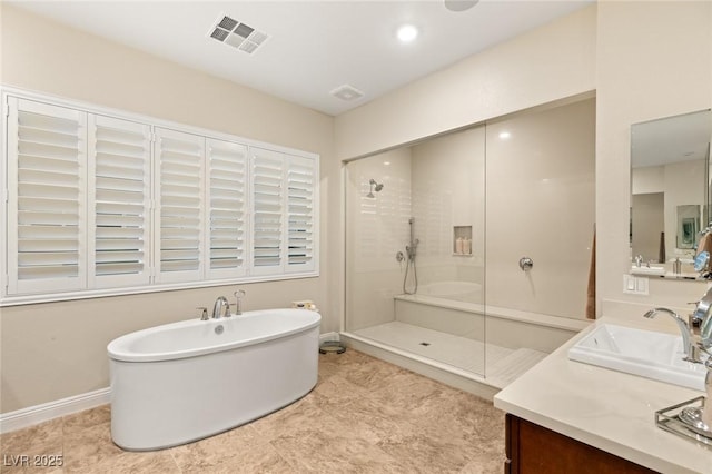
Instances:
[[[712,220],[711,137],[710,110],[631,127],[631,273],[699,276],[693,263]]]

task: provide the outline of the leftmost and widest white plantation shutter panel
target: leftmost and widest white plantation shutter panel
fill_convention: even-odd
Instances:
[[[86,284],[86,113],[8,98],[8,293]]]

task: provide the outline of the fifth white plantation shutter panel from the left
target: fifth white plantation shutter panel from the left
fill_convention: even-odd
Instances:
[[[285,157],[251,148],[253,274],[274,275],[285,260]]]

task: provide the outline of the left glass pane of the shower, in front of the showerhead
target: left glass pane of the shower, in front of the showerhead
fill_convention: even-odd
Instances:
[[[483,376],[484,138],[475,127],[349,162],[346,196],[347,330]]]

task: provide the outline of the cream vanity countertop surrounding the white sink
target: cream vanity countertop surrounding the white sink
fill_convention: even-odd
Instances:
[[[642,319],[642,318],[641,318]],[[568,348],[601,318],[494,397],[507,413],[662,473],[712,474],[712,450],[655,426],[655,412],[703,392],[570,361]]]

